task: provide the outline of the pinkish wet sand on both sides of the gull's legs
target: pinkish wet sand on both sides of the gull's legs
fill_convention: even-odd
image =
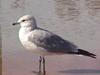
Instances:
[[[47,56],[46,75],[100,75],[99,59],[71,55]],[[38,56],[27,51],[5,55],[3,75],[37,75]]]

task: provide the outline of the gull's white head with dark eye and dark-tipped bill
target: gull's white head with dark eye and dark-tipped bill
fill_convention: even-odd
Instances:
[[[36,26],[36,20],[33,16],[31,15],[25,15],[19,18],[19,20],[16,23],[13,23],[13,25],[18,25],[20,24],[21,27],[37,27]]]

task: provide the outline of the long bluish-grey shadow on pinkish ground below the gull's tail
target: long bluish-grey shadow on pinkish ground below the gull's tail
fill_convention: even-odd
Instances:
[[[86,73],[100,73],[100,70],[96,69],[70,69],[59,71],[60,73],[76,73],[76,74],[86,74]]]

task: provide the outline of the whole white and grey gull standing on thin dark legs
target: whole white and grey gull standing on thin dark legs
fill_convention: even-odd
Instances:
[[[37,26],[32,15],[24,15],[13,25],[20,25],[19,39],[22,45],[33,54],[39,55],[39,73],[41,73],[41,63],[45,74],[46,55],[74,54],[96,58],[96,55],[86,50],[78,48],[72,42],[63,39],[48,30]]]

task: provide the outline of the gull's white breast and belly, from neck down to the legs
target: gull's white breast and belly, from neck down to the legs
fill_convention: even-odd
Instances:
[[[28,32],[25,32],[24,29],[20,29],[19,31],[19,38],[22,43],[22,45],[29,51],[32,51],[34,54],[38,55],[48,55],[51,53],[48,53],[44,48],[37,47],[33,42],[30,42],[28,40]]]

